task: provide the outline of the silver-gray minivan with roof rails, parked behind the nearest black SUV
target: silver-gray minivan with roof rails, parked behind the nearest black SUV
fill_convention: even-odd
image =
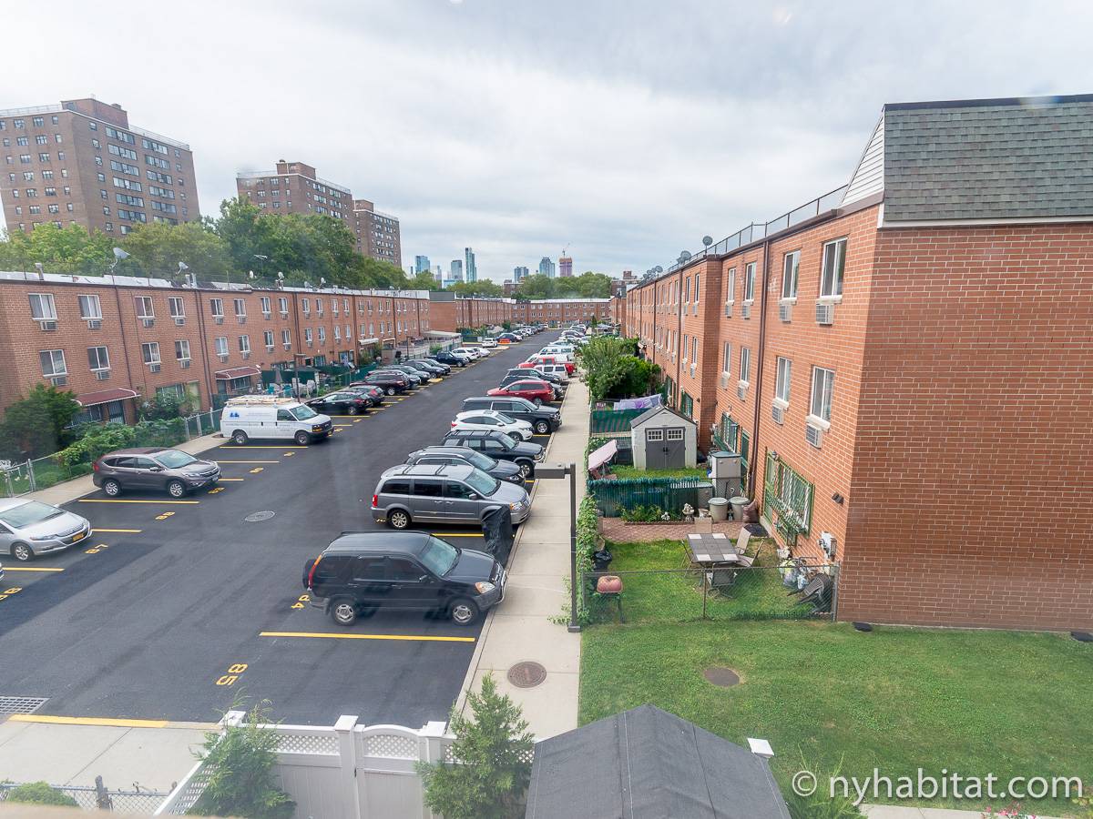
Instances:
[[[506,506],[513,525],[526,521],[531,512],[527,489],[469,465],[392,466],[379,476],[372,496],[376,522],[392,529],[406,529],[419,521],[480,526],[486,512]]]

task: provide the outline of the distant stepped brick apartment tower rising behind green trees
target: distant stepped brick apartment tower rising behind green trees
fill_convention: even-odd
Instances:
[[[319,178],[312,165],[279,159],[272,171],[236,174],[235,187],[239,199],[267,213],[318,213],[341,219],[356,237],[359,253],[402,266],[398,218],[376,211],[366,199],[353,199],[346,186]]]

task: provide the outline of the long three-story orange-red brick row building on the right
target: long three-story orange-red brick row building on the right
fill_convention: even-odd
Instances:
[[[1091,132],[885,106],[846,187],[615,299],[777,541],[832,545],[839,619],[1093,627]]]

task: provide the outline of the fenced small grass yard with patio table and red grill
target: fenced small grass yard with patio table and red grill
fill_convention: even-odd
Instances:
[[[686,569],[686,547],[680,541],[651,543],[611,543],[611,572],[650,569]],[[749,554],[755,554],[750,549]],[[712,619],[771,619],[807,617],[810,607],[801,606],[781,585],[781,575],[773,568],[774,547],[767,544],[755,566],[737,573],[736,583],[712,590],[706,598],[706,616]],[[661,574],[623,575],[623,613],[628,622],[679,622],[703,616],[703,580],[700,570]],[[589,612],[596,620],[618,617],[614,604],[591,597]]]

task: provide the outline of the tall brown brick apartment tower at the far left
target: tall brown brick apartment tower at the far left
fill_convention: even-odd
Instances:
[[[0,110],[0,156],[9,232],[51,224],[126,234],[201,215],[189,145],[131,127],[117,104],[66,99]]]

